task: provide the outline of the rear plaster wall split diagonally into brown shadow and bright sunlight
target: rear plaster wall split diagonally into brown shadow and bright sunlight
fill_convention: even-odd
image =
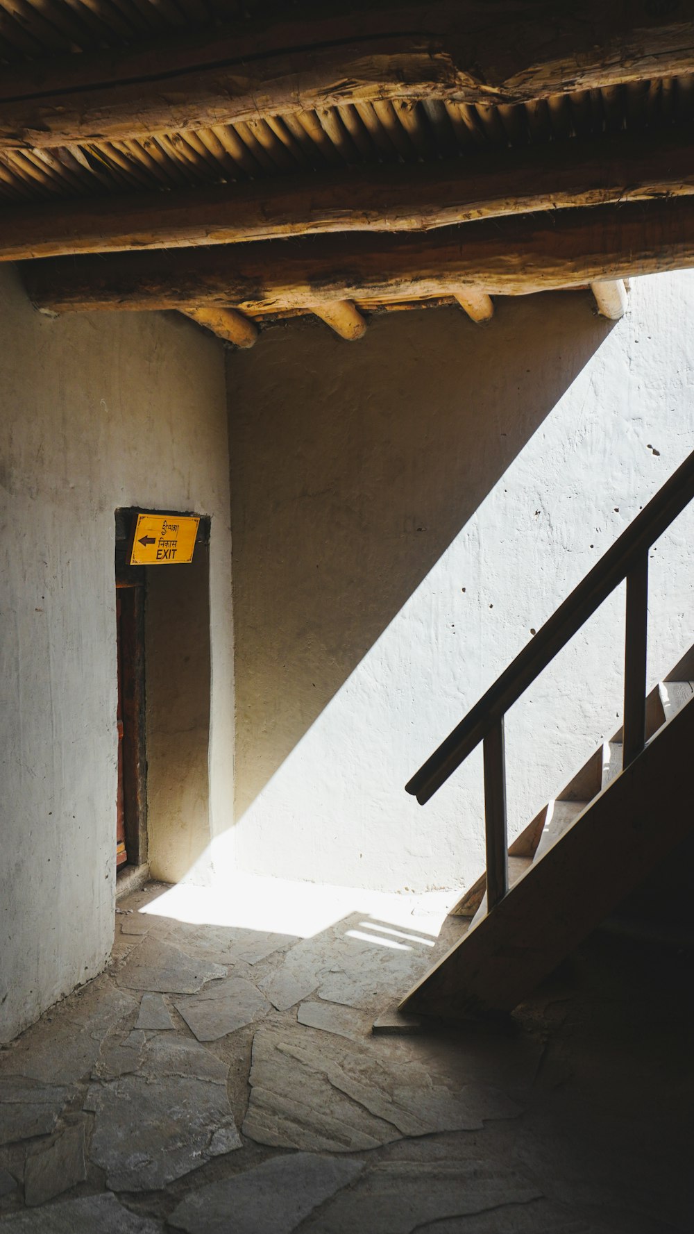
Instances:
[[[228,360],[237,851],[258,872],[465,885],[480,752],[404,782],[694,447],[694,276],[319,323]],[[692,516],[652,554],[650,680],[694,639]],[[621,716],[615,594],[507,719],[518,830]]]

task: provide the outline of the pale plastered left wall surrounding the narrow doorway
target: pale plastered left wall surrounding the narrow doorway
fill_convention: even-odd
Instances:
[[[97,972],[113,938],[113,511],[212,517],[212,829],[231,798],[223,353],[159,313],[67,316],[0,275],[0,1040]]]

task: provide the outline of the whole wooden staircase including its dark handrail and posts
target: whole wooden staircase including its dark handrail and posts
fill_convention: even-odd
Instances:
[[[648,549],[694,497],[694,454],[407,785],[424,805],[483,742],[487,870],[451,911],[461,938],[399,1004],[508,1012],[694,828],[694,650],[646,695]],[[624,727],[507,847],[503,719],[626,579]]]

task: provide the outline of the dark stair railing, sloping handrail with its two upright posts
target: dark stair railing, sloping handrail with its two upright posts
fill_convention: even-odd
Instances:
[[[504,714],[626,579],[624,765],[639,754],[643,748],[646,716],[648,549],[693,499],[694,452],[406,785],[407,792],[423,806],[480,742],[484,742],[487,850],[488,856],[494,854],[493,864],[499,868],[497,890],[500,895],[507,890],[505,790],[503,781],[498,782],[499,775],[504,775]],[[489,813],[496,819],[493,835],[489,835]],[[502,851],[503,860],[499,858]],[[487,884],[489,891],[489,863]]]

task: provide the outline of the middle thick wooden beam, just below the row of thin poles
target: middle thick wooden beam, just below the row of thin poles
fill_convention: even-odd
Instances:
[[[694,194],[690,127],[489,151],[443,163],[76,199],[0,211],[0,260],[227,244]]]

